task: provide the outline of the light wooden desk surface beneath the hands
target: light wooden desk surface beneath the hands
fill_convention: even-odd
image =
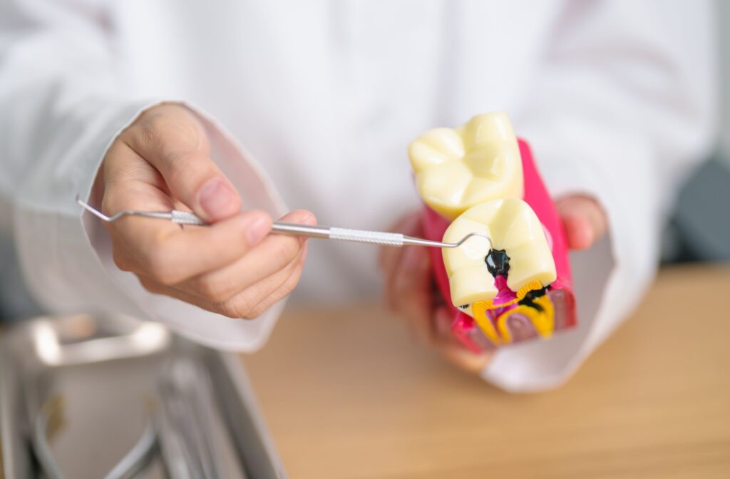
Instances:
[[[577,375],[541,394],[458,371],[373,305],[290,309],[245,363],[294,479],[726,479],[729,300],[730,267],[666,269]]]

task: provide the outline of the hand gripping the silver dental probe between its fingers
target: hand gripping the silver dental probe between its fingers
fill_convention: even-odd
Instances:
[[[241,212],[239,194],[210,158],[204,126],[187,108],[144,112],[112,143],[97,178],[101,210],[188,210],[210,226],[126,217],[107,223],[114,261],[147,291],[231,318],[255,318],[299,281],[304,240],[269,236],[265,212]],[[315,224],[311,212],[282,218]]]

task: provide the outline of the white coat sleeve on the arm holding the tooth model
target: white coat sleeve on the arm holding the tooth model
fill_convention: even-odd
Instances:
[[[502,348],[483,371],[508,391],[558,386],[631,313],[680,180],[715,128],[710,1],[571,1],[556,25],[515,130],[553,197],[593,196],[610,231],[572,254],[579,326]]]

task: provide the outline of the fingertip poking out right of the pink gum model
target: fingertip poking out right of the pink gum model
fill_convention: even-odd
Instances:
[[[556,201],[556,208],[563,222],[569,248],[590,248],[606,233],[606,215],[595,199],[588,196],[566,196]]]

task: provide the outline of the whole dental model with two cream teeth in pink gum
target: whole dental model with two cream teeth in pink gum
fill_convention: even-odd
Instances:
[[[553,202],[526,142],[504,113],[477,115],[456,129],[427,131],[408,153],[426,204],[439,291],[453,304],[453,332],[472,350],[575,325],[567,248]]]

